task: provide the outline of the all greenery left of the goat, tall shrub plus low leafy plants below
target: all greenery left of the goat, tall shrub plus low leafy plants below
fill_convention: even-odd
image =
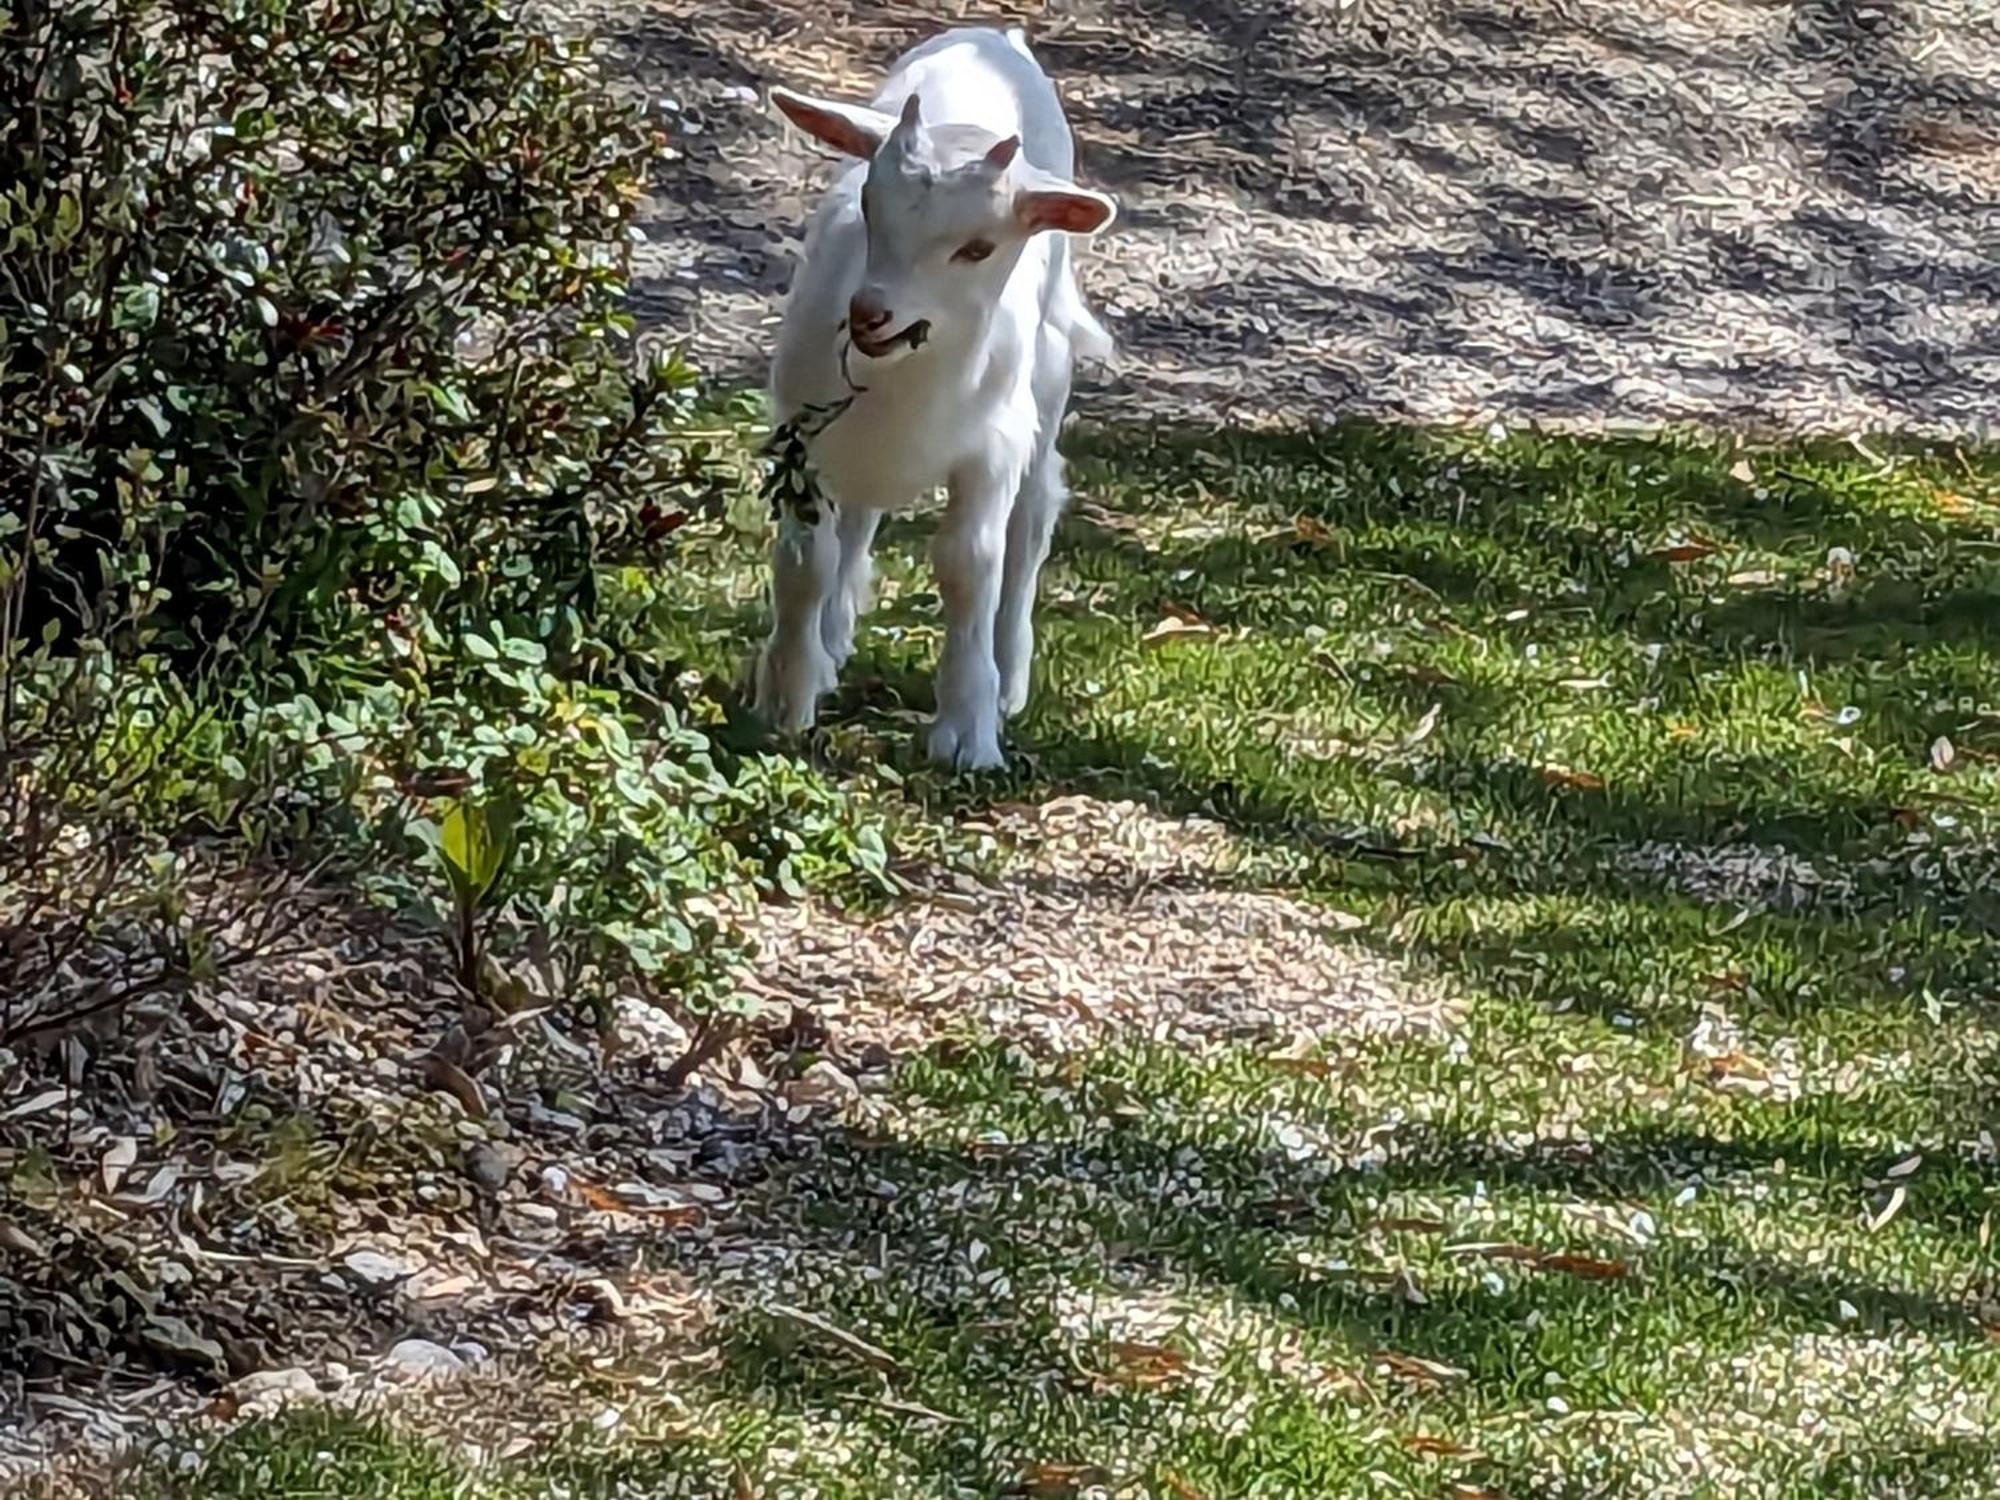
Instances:
[[[698,894],[880,874],[644,650],[722,486],[624,312],[652,144],[502,0],[0,0],[0,920],[192,822],[464,948],[440,830],[504,812],[480,930],[686,996]]]

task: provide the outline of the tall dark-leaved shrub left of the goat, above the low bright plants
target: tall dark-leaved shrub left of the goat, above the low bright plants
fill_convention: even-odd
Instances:
[[[652,144],[500,0],[0,4],[22,608],[180,660],[574,630],[700,480],[620,348]]]

